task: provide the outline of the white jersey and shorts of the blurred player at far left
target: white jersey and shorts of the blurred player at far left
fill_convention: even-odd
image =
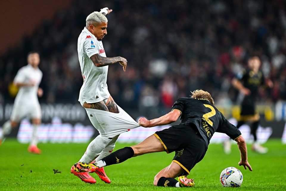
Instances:
[[[38,88],[43,77],[42,71],[30,64],[22,67],[15,76],[14,83],[35,83],[35,86],[20,86],[15,98],[11,120],[18,122],[24,117],[41,118]]]

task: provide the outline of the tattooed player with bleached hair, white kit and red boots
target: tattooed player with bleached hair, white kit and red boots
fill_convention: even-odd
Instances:
[[[77,41],[78,59],[83,76],[83,86],[78,101],[86,109],[91,123],[100,133],[91,141],[80,158],[79,162],[84,163],[101,160],[112,152],[121,133],[139,127],[136,121],[116,105],[107,89],[108,65],[119,63],[124,71],[127,65],[127,60],[120,56],[107,58],[102,45],[101,40],[107,34],[108,20],[105,15],[111,11],[106,7],[100,12],[88,15],[86,27]],[[87,172],[76,172],[76,164],[71,167],[71,173],[82,181],[96,183]],[[102,181],[110,183],[103,168],[97,171],[97,175]]]

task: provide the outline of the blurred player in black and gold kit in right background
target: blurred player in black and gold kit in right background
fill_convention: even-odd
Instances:
[[[257,141],[257,129],[259,125],[259,113],[255,111],[255,103],[258,96],[259,87],[267,85],[273,87],[273,83],[269,79],[265,79],[263,73],[259,70],[261,61],[258,56],[253,56],[248,59],[248,68],[239,73],[236,78],[232,80],[233,86],[243,93],[244,98],[241,103],[240,119],[237,122],[237,128],[240,128],[247,121],[251,122],[251,135],[254,137],[252,150],[258,153],[267,153],[268,149],[262,147]],[[231,142],[229,140],[224,142],[225,153],[231,152]]]

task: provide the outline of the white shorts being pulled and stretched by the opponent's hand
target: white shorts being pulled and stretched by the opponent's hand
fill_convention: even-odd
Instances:
[[[119,113],[85,108],[91,123],[98,130],[101,136],[113,138],[116,135],[130,131],[136,127],[140,127],[140,125],[134,121],[128,113],[118,105],[117,107]]]

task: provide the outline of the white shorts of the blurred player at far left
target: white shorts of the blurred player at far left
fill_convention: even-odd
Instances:
[[[27,102],[27,103],[21,103],[20,104],[14,104],[13,110],[11,113],[10,120],[19,122],[23,118],[29,118],[29,119],[41,119],[42,118],[42,112],[41,112],[41,106],[39,102]]]

